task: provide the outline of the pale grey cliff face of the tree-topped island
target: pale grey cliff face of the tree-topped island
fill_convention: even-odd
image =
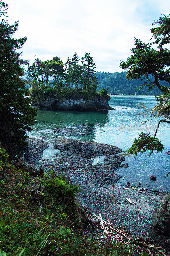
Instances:
[[[63,98],[58,100],[56,97],[47,97],[47,100],[37,100],[32,102],[32,106],[38,107],[39,109],[52,109],[52,110],[110,110],[114,109],[109,106],[108,101],[110,96],[101,97],[96,96],[92,100],[88,98],[82,98],[80,96],[73,98]]]

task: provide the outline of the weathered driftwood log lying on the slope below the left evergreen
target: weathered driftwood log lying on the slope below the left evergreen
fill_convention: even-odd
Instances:
[[[11,164],[13,164],[16,168],[22,169],[24,172],[28,172],[33,177],[37,177],[37,176],[42,177],[44,173],[44,169],[43,169],[44,162],[40,168],[37,168],[33,164],[28,164],[27,162],[24,161],[24,153],[21,158],[14,156],[14,160],[11,161]]]

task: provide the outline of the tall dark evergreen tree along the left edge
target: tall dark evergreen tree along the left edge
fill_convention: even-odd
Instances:
[[[5,5],[7,9],[7,4]],[[18,50],[25,44],[26,37],[16,39],[12,35],[18,30],[16,21],[9,25],[3,17],[4,2],[0,0],[0,141],[11,154],[25,145],[26,132],[31,131],[36,111],[29,106],[30,100]]]

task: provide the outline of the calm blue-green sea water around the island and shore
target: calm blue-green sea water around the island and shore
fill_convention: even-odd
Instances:
[[[53,140],[57,135],[50,133],[49,130],[54,127],[67,127],[79,124],[94,124],[94,132],[88,136],[76,136],[71,138],[96,141],[107,144],[112,144],[120,147],[122,150],[127,150],[131,147],[134,138],[138,138],[139,132],[150,132],[153,136],[156,126],[160,118],[154,118],[141,126],[141,122],[151,119],[145,117],[145,113],[149,113],[146,109],[137,107],[138,103],[144,103],[147,107],[152,108],[156,100],[149,96],[112,96],[109,105],[115,110],[101,112],[81,112],[81,111],[45,111],[39,110],[37,114],[37,122],[33,126],[33,131],[29,132],[29,136],[40,138],[50,145],[44,151],[43,158],[55,158],[56,149],[53,148]],[[123,110],[121,108],[128,107]],[[157,137],[164,144],[162,154],[154,152],[150,157],[149,153],[138,154],[137,159],[126,157],[129,164],[128,168],[117,170],[117,174],[126,176],[124,182],[129,181],[134,185],[139,182],[145,187],[147,183],[150,188],[159,188],[160,191],[170,190],[170,178],[166,178],[166,174],[170,171],[170,156],[166,154],[170,151],[170,130],[168,124],[161,123],[157,133]],[[157,180],[151,181],[150,175],[155,175]],[[122,183],[120,181],[119,183]]]

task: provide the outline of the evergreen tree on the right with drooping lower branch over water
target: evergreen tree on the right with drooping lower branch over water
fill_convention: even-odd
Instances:
[[[153,137],[150,134],[141,133],[138,139],[134,139],[132,147],[126,152],[127,156],[133,154],[136,157],[138,152],[145,153],[147,150],[150,152],[149,155],[154,150],[162,152],[164,146],[156,138],[156,134],[161,122],[170,124],[168,120],[170,118],[170,88],[160,84],[161,80],[170,84],[170,51],[163,48],[164,44],[170,42],[170,14],[160,17],[158,23],[159,27],[151,29],[153,36],[156,38],[154,43],[158,44],[158,50],[152,48],[151,44],[145,44],[135,38],[135,47],[132,48],[130,57],[127,61],[120,60],[120,67],[129,69],[126,75],[127,79],[136,78],[143,81],[141,88],[148,86],[149,89],[153,89],[154,86],[157,86],[161,90],[162,95],[156,96],[157,104],[151,110],[151,113],[164,117],[159,121]],[[149,79],[149,75],[152,80]],[[143,105],[141,107],[146,108]],[[146,122],[147,120],[143,124]]]

